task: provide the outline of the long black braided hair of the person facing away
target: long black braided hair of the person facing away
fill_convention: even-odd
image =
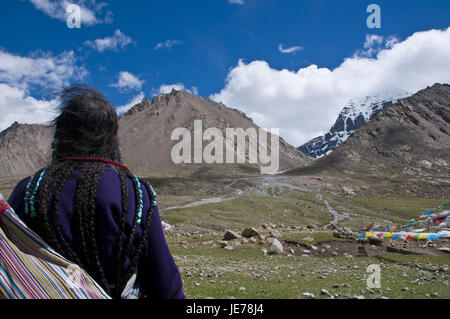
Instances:
[[[56,128],[52,144],[53,160],[48,167],[32,176],[27,186],[25,206],[30,207],[32,216],[34,215],[34,218],[30,218],[29,225],[38,230],[39,235],[53,249],[85,269],[108,294],[119,298],[128,279],[136,272],[146,246],[156,206],[154,192],[147,181],[138,179],[125,167],[114,166],[120,178],[122,209],[121,216],[114,216],[119,227],[115,243],[116,276],[113,282],[110,282],[111,279],[108,281],[100,262],[94,222],[96,192],[107,164],[101,161],[65,159],[96,158],[121,163],[117,114],[99,91],[86,85],[74,85],[64,89],[59,111],[60,114],[53,121]],[[64,213],[57,209],[61,191],[76,169],[80,169],[80,173],[74,194],[73,223],[80,235],[80,242],[77,244],[81,249],[78,253],[64,237],[57,222],[58,214]],[[129,180],[136,196],[136,212],[132,226],[126,227]],[[145,188],[150,198],[150,209],[143,215],[142,221],[138,216],[139,184],[144,186],[142,189]],[[134,249],[133,244],[138,240],[136,230],[139,222],[143,232]],[[127,258],[131,260],[131,264],[128,269],[124,269]]]

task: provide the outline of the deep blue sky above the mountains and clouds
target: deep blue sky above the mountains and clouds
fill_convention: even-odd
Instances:
[[[450,12],[448,0],[433,0],[432,4],[417,0],[243,0],[241,3],[229,0],[73,0],[89,10],[94,21],[82,21],[81,28],[69,29],[64,17],[61,18],[63,13],[57,12],[58,7],[51,7],[52,2],[65,4],[68,1],[2,0],[0,48],[5,55],[46,57],[52,61],[59,58],[61,64],[69,64],[71,69],[63,71],[65,75],[57,73],[53,84],[58,81],[90,84],[104,92],[115,106],[125,105],[142,95],[151,97],[164,92],[163,85],[177,84],[201,96],[215,96],[225,104],[228,102],[254,115],[260,125],[271,127],[283,126],[283,121],[270,122],[267,109],[251,106],[258,104],[257,101],[230,97],[227,88],[234,79],[230,72],[239,68],[240,60],[244,66],[264,61],[274,72],[286,69],[295,73],[311,65],[334,70],[358,52],[361,58],[366,54],[365,58],[377,59],[374,54],[391,48],[387,44],[389,39],[397,43],[420,31],[445,30],[449,27]],[[371,3],[381,8],[380,29],[369,29],[366,25],[369,16],[366,8]],[[374,38],[379,47],[374,48],[373,55],[368,53],[368,47],[364,48],[368,36],[383,39],[377,42]],[[114,38],[118,41],[115,48],[108,49],[106,45],[106,49],[101,50],[95,42],[105,39],[104,44],[112,45]],[[281,49],[292,50],[283,53],[280,45]],[[72,55],[63,58],[64,52]],[[12,81],[12,76],[2,77],[1,63],[6,62],[0,60],[0,83],[19,88],[24,92],[23,99],[29,97],[33,103],[51,99],[45,75],[39,76],[44,79],[42,82],[32,80],[25,84],[20,78]],[[70,73],[73,70],[75,72]],[[8,72],[14,73],[14,70],[9,68]],[[123,78],[119,82],[121,72]],[[437,80],[447,80],[446,76]],[[400,89],[410,88],[415,86]],[[257,89],[260,88],[255,85],[254,90]],[[279,91],[283,90],[277,89]],[[236,90],[233,92],[239,94]],[[343,95],[342,101],[352,97]],[[278,96],[278,100],[283,98]],[[30,99],[28,102],[32,105]],[[329,103],[342,104],[340,101],[330,100]],[[343,106],[324,109],[325,120],[316,125],[319,129],[286,133],[288,140],[295,144],[314,137],[332,124]],[[307,105],[302,107],[307,108]],[[292,113],[292,108],[286,112]],[[295,123],[289,126],[294,127]],[[298,126],[301,126],[300,120]]]

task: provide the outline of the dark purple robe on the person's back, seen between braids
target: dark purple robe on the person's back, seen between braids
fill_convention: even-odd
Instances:
[[[75,169],[63,186],[57,203],[57,221],[64,238],[70,243],[77,255],[80,256],[80,234],[74,226],[72,206],[79,173],[80,166]],[[9,204],[26,224],[29,224],[30,218],[32,218],[29,214],[25,214],[24,209],[25,188],[29,180],[30,177],[19,182],[8,200]],[[122,192],[120,185],[119,174],[112,166],[106,165],[97,189],[94,220],[100,263],[103,266],[108,282],[115,282],[116,278],[115,245],[119,235],[119,225],[113,216],[122,215]],[[142,212],[143,226],[147,219],[150,199],[144,185],[141,185],[141,189],[144,201],[144,209]],[[133,223],[135,204],[134,187],[131,180],[128,179],[128,213],[126,216],[127,225],[125,227],[131,227]],[[39,235],[41,230],[33,229],[33,231]],[[142,238],[142,232],[142,227],[138,226],[136,234],[139,239]],[[132,251],[136,249],[137,243],[136,241],[133,242]],[[127,258],[124,269],[127,269],[129,265],[130,259]],[[138,281],[141,292],[149,298],[185,298],[182,290],[183,283],[180,272],[167,246],[157,207],[154,210],[152,228],[142,253],[141,262],[138,265]]]

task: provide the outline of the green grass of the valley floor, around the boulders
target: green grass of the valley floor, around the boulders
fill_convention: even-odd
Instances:
[[[351,220],[340,222],[352,228],[380,219],[404,224],[445,201],[323,195],[338,212],[355,214]],[[164,199],[177,202],[169,195]],[[331,218],[324,202],[314,193],[299,190],[274,190],[265,196],[245,195],[162,213],[162,219],[181,233],[190,232],[187,236],[167,236],[190,298],[304,298],[304,292],[317,298],[450,298],[448,256],[387,253],[374,257],[301,257],[288,252],[264,255],[262,250],[269,244],[259,240],[244,244],[236,240],[233,250],[218,244],[225,229],[239,233],[246,227],[273,223],[285,225],[279,238],[284,246],[286,242],[297,242],[308,248],[337,239],[330,231],[301,233],[288,227],[320,227]],[[367,288],[367,267],[371,264],[381,267],[380,289]],[[321,295],[322,289],[329,295]]]

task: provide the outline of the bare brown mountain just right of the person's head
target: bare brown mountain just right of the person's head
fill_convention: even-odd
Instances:
[[[224,137],[226,128],[258,129],[250,118],[236,109],[207,98],[173,90],[170,94],[156,96],[151,101],[144,99],[120,117],[119,137],[125,163],[138,174],[153,176],[259,173],[258,165],[174,164],[170,154],[178,140],[171,140],[172,131],[184,127],[193,137],[194,120],[202,120],[203,132],[207,128],[215,127]],[[203,142],[203,147],[208,143],[209,141]],[[311,162],[309,157],[281,138],[279,145],[280,170]]]

